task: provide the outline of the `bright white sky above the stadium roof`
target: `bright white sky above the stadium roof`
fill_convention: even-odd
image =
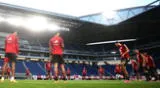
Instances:
[[[70,16],[144,6],[155,0],[0,0],[3,3],[56,12]]]

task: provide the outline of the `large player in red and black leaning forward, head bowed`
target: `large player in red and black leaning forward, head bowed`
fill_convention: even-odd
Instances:
[[[119,52],[121,55],[121,68],[122,68],[122,72],[123,72],[124,78],[125,78],[124,82],[128,83],[129,82],[129,75],[126,70],[126,65],[128,64],[128,62],[130,60],[129,49],[125,44],[115,43],[115,45],[119,48]]]

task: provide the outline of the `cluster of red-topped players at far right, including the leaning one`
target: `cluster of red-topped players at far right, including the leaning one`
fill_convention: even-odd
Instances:
[[[146,81],[150,81],[152,77],[155,78],[155,80],[158,80],[158,74],[156,71],[156,65],[152,58],[152,56],[148,55],[147,52],[140,52],[138,49],[135,49],[134,52],[136,53],[136,60],[131,59],[129,55],[129,49],[125,44],[116,43],[115,44],[119,48],[119,52],[121,55],[121,64],[120,64],[120,70],[117,71],[118,74],[123,74],[126,83],[129,81],[129,75],[126,70],[126,65],[129,61],[131,61],[132,68],[134,69],[134,73],[136,74],[136,77],[138,80],[140,80],[140,74],[144,75],[146,78]],[[118,68],[118,67],[117,67]]]

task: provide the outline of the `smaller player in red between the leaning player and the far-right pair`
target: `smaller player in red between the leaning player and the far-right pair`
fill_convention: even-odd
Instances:
[[[134,74],[136,75],[137,80],[140,79],[140,74],[138,72],[139,66],[138,62],[136,60],[131,60],[132,69],[134,71]]]

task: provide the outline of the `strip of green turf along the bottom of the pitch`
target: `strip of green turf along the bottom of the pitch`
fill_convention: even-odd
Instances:
[[[132,81],[129,84],[123,81],[116,80],[86,80],[86,81],[60,81],[55,84],[54,81],[46,80],[18,80],[18,83],[10,83],[5,80],[0,83],[0,88],[160,88],[160,82],[136,82]]]

